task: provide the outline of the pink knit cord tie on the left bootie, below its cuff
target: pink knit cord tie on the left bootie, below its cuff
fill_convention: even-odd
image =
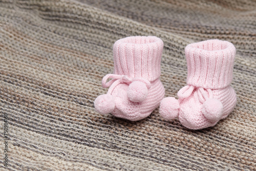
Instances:
[[[112,80],[110,80],[109,82],[106,82],[106,80],[108,80],[109,78],[112,78]],[[102,87],[108,88],[117,80],[119,80],[120,83],[127,83],[127,84],[131,84],[133,81],[141,81],[146,84],[147,90],[151,88],[151,82],[145,78],[140,78],[140,77],[133,78],[129,75],[117,75],[117,74],[105,75],[101,82]]]

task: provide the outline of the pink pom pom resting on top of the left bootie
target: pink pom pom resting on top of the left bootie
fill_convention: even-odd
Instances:
[[[141,81],[134,81],[130,84],[127,95],[133,102],[141,102],[147,97],[146,84]]]

